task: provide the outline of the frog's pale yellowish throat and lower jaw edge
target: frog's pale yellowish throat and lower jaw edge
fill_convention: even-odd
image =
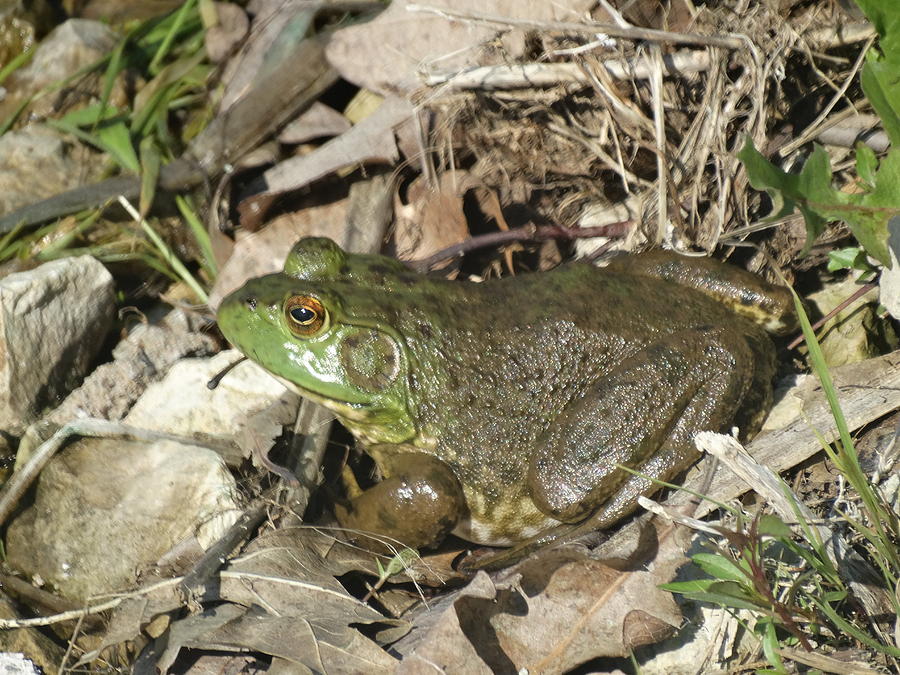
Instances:
[[[287,389],[333,412],[341,424],[366,443],[403,443],[416,437],[416,427],[406,406],[386,408],[377,403],[350,403],[328,398],[280,375],[270,374]]]

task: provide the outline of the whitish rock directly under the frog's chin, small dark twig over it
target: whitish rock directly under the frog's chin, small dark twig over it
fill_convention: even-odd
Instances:
[[[216,389],[206,384],[241,357],[227,351],[208,359],[183,359],[138,399],[125,423],[231,446],[240,457],[254,446],[270,447],[284,426],[294,424],[300,397],[255,363],[229,372]]]

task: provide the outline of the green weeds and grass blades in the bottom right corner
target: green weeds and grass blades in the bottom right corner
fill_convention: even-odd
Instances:
[[[841,514],[843,527],[881,574],[885,595],[891,599],[894,612],[900,614],[900,521],[860,467],[834,382],[796,294],[794,305],[813,371],[838,429],[838,439],[833,444],[819,435],[822,449],[860,501],[858,517]],[[791,494],[787,486],[785,493]],[[736,516],[735,527],[719,528],[724,543],[712,552],[692,557],[708,578],[675,582],[663,588],[698,602],[750,610],[756,618],[754,630],[773,666],[773,670],[765,672],[786,672],[777,651],[783,639],[796,641],[806,649],[812,647],[813,639],[833,645],[853,640],[890,658],[900,658],[900,648],[885,643],[871,629],[867,617],[859,611],[849,579],[844,577],[847,570],[834,564],[819,531],[799,509],[795,510],[798,524],[794,529],[771,515],[753,518],[748,525],[745,516],[732,512]]]

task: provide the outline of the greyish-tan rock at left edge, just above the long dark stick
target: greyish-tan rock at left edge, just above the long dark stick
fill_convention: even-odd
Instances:
[[[62,134],[32,124],[0,136],[0,214],[77,187],[90,170]]]

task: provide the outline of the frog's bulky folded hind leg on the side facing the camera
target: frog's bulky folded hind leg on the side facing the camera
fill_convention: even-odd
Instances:
[[[697,456],[693,436],[730,424],[752,377],[752,352],[727,332],[710,327],[667,336],[571,402],[529,467],[538,508],[565,522],[599,508],[608,524],[653,489],[616,464],[659,480],[686,468]]]

